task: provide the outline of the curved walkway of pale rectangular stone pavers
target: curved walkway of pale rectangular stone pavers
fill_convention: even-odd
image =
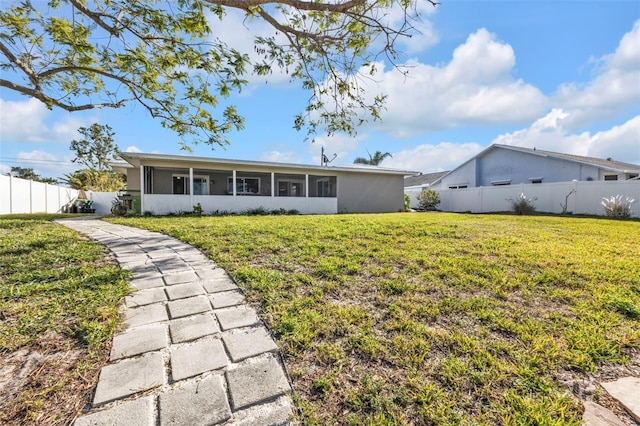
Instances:
[[[276,344],[223,269],[156,232],[91,217],[58,223],[107,246],[137,290],[75,426],[289,424]]]

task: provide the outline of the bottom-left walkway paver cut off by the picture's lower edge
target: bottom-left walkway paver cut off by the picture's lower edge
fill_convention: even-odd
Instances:
[[[155,401],[145,396],[112,408],[79,417],[75,426],[155,426]]]

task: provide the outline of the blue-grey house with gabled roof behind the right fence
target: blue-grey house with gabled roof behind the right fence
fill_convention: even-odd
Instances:
[[[640,165],[494,144],[431,182],[430,189],[461,189],[571,181],[638,179]]]

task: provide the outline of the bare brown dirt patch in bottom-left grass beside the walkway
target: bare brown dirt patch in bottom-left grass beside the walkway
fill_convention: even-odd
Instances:
[[[55,332],[0,355],[0,423],[70,424],[89,400],[97,364],[76,341]]]

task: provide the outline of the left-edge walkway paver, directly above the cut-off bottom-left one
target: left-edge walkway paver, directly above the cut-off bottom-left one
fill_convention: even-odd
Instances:
[[[101,405],[164,383],[164,361],[157,352],[102,367],[94,405]]]

